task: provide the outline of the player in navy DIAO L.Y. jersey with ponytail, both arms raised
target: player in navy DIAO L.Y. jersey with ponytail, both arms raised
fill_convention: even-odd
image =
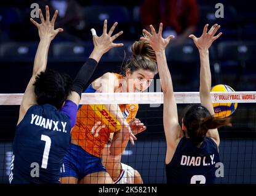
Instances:
[[[165,48],[170,39],[162,38],[162,23],[159,32],[156,33],[151,25],[151,34],[143,30],[148,38],[142,38],[149,42],[156,53],[159,75],[162,80],[164,93],[164,132],[166,134],[166,177],[167,183],[214,183],[215,164],[220,161],[218,145],[218,127],[230,126],[229,118],[214,117],[214,108],[210,96],[211,75],[209,64],[209,47],[214,40],[221,36],[221,32],[215,36],[220,28],[215,24],[207,32],[204,27],[201,37],[190,35],[198,47],[200,69],[200,100],[201,105],[193,105],[188,108],[183,117],[182,127],[178,124],[177,104],[175,103],[172,79],[166,62]],[[185,135],[183,135],[183,132]]]

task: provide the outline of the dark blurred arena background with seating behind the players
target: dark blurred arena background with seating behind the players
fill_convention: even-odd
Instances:
[[[30,5],[36,1],[0,2],[0,93],[23,93],[30,80],[33,59],[39,41],[38,32],[30,24]],[[139,6],[142,1],[78,1],[86,21],[82,36],[76,39],[56,39],[49,52],[48,67],[66,72],[74,77],[92,50],[90,28],[99,35],[102,21],[92,20],[94,14],[109,14],[108,24],[118,21],[118,30],[124,31],[117,42],[124,49],[107,53],[99,63],[90,81],[105,72],[119,72],[124,59],[130,55],[129,46],[142,34]],[[214,17],[215,4],[224,5],[224,18]],[[112,7],[112,8],[111,8]],[[114,8],[113,8],[114,7]],[[253,1],[198,1],[199,21],[194,33],[200,36],[202,26],[219,23],[222,37],[210,50],[212,85],[230,85],[236,91],[255,91],[255,34],[256,12]],[[111,11],[112,9],[112,11]],[[111,14],[113,9],[119,10]],[[125,13],[125,14],[124,14]],[[104,16],[104,15],[103,15]],[[104,18],[104,17],[103,17]],[[100,19],[99,19],[100,20]],[[98,23],[97,23],[98,22]],[[100,23],[100,25],[99,25]],[[65,29],[65,26],[62,26]],[[117,30],[117,31],[118,31]],[[58,37],[58,36],[57,36]],[[199,55],[189,40],[167,48],[167,60],[171,65],[174,90],[198,91]],[[157,76],[156,78],[159,78]],[[156,86],[155,86],[156,87]],[[156,91],[157,88],[154,88]],[[179,113],[185,105],[178,105]],[[239,104],[233,115],[233,127],[220,129],[220,157],[225,166],[225,176],[217,183],[256,183],[256,104]],[[140,105],[138,112],[147,130],[138,135],[135,146],[128,146],[122,162],[140,171],[144,183],[165,183],[164,156],[166,144],[162,127],[162,106]],[[10,154],[18,106],[0,105],[0,183],[8,183]]]

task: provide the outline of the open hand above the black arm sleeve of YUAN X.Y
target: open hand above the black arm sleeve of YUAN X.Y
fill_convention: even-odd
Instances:
[[[117,34],[114,34],[114,36],[112,36],[113,31],[117,25],[118,25],[117,22],[114,23],[114,25],[111,27],[110,31],[107,32],[107,20],[104,21],[102,36],[98,37],[97,34],[94,34],[92,36],[92,39],[94,40],[94,49],[95,50],[100,51],[102,54],[104,54],[111,48],[123,46],[122,43],[113,43],[113,41],[122,34],[122,31],[120,31]]]

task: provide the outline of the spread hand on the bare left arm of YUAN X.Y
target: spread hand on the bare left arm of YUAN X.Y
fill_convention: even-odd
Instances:
[[[33,18],[30,18],[30,21],[38,28],[38,34],[41,40],[50,39],[51,41],[58,34],[58,32],[63,31],[62,28],[54,29],[54,23],[58,15],[58,10],[55,10],[54,17],[52,17],[51,21],[48,6],[46,6],[46,20],[44,20],[44,16],[42,15],[41,9],[39,9],[39,15],[41,18],[41,24],[34,21]]]

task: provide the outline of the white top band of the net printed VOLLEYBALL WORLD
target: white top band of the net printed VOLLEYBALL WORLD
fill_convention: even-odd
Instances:
[[[0,105],[20,105],[23,94],[0,94]],[[199,92],[174,92],[177,104],[200,103]],[[256,91],[211,92],[213,103],[256,103]],[[162,104],[162,92],[83,93],[80,104]]]

